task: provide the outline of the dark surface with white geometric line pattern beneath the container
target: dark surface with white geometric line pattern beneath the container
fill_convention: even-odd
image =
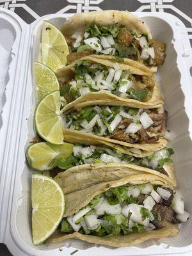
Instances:
[[[17,13],[28,24],[43,15],[56,12],[76,13],[110,9],[130,12],[168,12],[184,22],[192,42],[192,0],[92,0],[91,2],[84,0],[83,4],[81,0],[70,2],[70,0],[1,0],[0,7]],[[0,256],[12,256],[4,244],[0,244]]]

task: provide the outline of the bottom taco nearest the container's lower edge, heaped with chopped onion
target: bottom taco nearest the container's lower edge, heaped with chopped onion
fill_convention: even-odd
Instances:
[[[113,247],[133,246],[151,238],[176,236],[177,223],[189,218],[182,195],[161,177],[147,173],[124,176],[124,170],[115,175],[106,168],[92,179],[93,172],[85,170],[71,177],[68,173],[68,186],[63,186],[65,214],[60,232],[49,242],[61,244],[76,238]]]

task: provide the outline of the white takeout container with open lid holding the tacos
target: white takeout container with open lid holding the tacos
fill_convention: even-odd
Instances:
[[[186,211],[192,214],[192,54],[184,24],[168,13],[135,13],[145,20],[154,38],[166,42],[166,61],[157,79],[168,110],[168,127],[177,134],[175,168]],[[60,27],[70,14],[47,15],[27,25],[15,13],[0,8],[0,243],[13,255],[191,255],[192,218],[180,227],[177,237],[150,240],[129,248],[109,248],[68,240],[33,246],[31,241],[31,173],[25,150],[33,138],[33,61],[40,56],[43,20]],[[3,51],[2,51],[3,49]],[[4,62],[3,62],[4,61]],[[7,71],[8,70],[8,71]],[[5,92],[4,92],[5,89]],[[154,237],[155,238],[155,237]]]

